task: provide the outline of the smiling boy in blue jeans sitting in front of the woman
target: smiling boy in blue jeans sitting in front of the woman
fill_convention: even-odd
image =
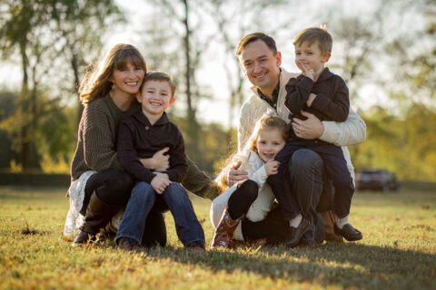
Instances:
[[[118,247],[125,250],[141,248],[145,221],[155,203],[160,205],[158,208],[163,205],[164,209],[170,209],[184,247],[204,248],[203,227],[180,185],[188,169],[183,136],[165,113],[175,101],[174,92],[175,83],[168,74],[147,73],[136,94],[141,110],[120,123],[118,158],[124,169],[137,179],[115,238]],[[169,168],[146,169],[140,159],[150,158],[164,148],[168,148]]]

